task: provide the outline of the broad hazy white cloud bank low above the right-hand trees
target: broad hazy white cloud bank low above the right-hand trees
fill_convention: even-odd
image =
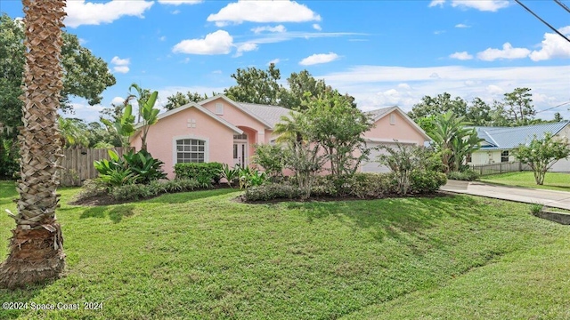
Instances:
[[[544,103],[535,103],[537,109],[554,107],[568,99],[568,74],[570,66],[407,68],[363,65],[315,77],[324,79],[340,92],[353,95],[363,110],[398,105],[409,111],[424,95],[449,92],[465,100],[480,97],[492,103],[494,99],[501,99],[504,92],[517,87],[533,88],[533,94],[548,97]],[[401,84],[412,84],[413,90]],[[566,118],[570,116],[567,112],[566,115],[563,113]]]

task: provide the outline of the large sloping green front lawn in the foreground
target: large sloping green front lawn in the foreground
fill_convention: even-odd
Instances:
[[[473,196],[240,204],[232,189],[103,207],[61,189],[65,277],[0,318],[567,319],[570,228]],[[12,183],[0,208],[15,210]],[[0,255],[13,221],[0,217]]]

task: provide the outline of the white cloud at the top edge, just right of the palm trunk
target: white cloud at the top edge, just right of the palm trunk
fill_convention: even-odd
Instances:
[[[64,22],[69,28],[81,25],[99,25],[111,23],[122,16],[144,18],[143,12],[151,8],[152,1],[120,1],[114,0],[105,4],[85,2],[85,0],[68,1]]]

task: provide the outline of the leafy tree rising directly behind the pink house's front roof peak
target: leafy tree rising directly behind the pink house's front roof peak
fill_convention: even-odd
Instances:
[[[281,79],[281,71],[275,68],[275,64],[269,65],[267,70],[255,67],[238,68],[232,74],[237,85],[224,90],[228,98],[240,102],[259,103],[265,105],[277,105],[279,103],[283,87],[278,84]]]

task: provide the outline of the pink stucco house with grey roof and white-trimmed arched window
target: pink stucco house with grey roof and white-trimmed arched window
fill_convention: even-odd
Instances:
[[[254,154],[254,145],[273,143],[275,124],[289,109],[236,102],[224,95],[216,95],[199,103],[191,102],[159,115],[151,125],[147,148],[152,156],[162,160],[168,178],[174,175],[174,165],[181,162],[248,165]],[[364,134],[368,146],[401,143],[423,145],[429,140],[398,107],[371,111],[376,127]],[[141,125],[137,125],[140,129]],[[131,146],[141,148],[141,131],[131,137]],[[373,152],[374,159],[379,151]],[[378,163],[362,165],[362,172],[386,172]]]

